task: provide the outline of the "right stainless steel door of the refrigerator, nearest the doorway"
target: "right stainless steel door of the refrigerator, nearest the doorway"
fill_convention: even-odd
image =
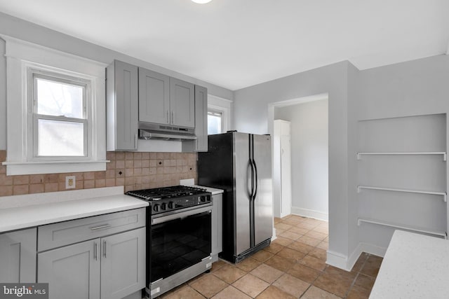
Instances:
[[[273,193],[272,193],[272,141],[269,135],[254,136],[254,162],[257,168],[257,183],[254,199],[255,245],[272,237]]]

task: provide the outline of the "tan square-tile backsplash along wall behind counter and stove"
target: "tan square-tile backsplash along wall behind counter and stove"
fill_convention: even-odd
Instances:
[[[125,186],[125,191],[178,185],[180,179],[196,181],[196,153],[107,152],[104,172],[29,174],[6,176],[0,165],[0,196]],[[0,151],[0,163],[6,151]],[[74,189],[65,188],[65,177],[75,176]]]

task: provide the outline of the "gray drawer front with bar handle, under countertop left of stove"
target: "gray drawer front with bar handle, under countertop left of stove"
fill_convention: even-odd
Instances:
[[[105,237],[143,226],[145,226],[145,208],[42,225],[38,228],[37,251]]]

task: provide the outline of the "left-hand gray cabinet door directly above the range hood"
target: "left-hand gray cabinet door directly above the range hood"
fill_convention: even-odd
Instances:
[[[170,122],[170,78],[139,68],[139,121]]]

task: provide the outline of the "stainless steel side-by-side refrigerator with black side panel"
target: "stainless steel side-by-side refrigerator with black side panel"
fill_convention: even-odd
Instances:
[[[209,135],[208,152],[198,153],[198,183],[225,190],[220,258],[238,263],[270,244],[273,195],[269,135]]]

